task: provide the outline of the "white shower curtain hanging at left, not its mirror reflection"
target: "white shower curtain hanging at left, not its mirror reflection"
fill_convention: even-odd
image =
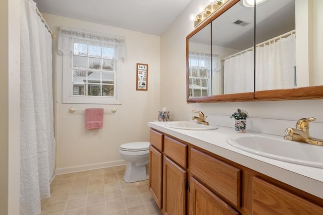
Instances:
[[[21,0],[20,214],[40,213],[55,166],[51,35],[36,3]]]

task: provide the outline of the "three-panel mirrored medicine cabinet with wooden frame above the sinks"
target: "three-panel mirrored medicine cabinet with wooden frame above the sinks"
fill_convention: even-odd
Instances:
[[[323,1],[229,0],[186,37],[187,102],[323,99]]]

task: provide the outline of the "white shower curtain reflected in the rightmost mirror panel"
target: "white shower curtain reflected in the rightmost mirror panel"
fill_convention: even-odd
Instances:
[[[295,87],[295,39],[293,34],[256,47],[256,91]]]

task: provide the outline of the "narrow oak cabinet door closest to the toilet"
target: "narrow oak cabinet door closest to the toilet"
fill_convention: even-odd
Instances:
[[[149,192],[161,209],[163,194],[163,154],[149,146]]]

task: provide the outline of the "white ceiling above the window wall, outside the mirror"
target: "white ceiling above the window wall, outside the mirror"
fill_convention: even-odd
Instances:
[[[191,0],[34,0],[41,13],[160,36]]]

